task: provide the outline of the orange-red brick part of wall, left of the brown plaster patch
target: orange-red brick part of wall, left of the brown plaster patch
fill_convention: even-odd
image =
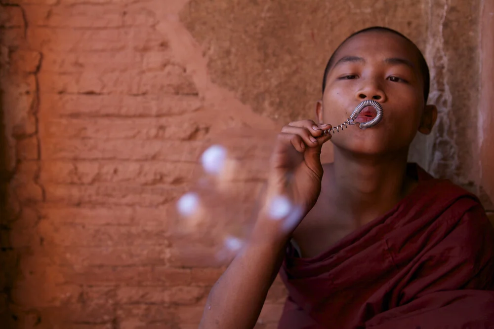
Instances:
[[[269,137],[246,128],[276,131],[284,109],[257,97],[269,110],[253,111],[240,99],[259,86],[225,86],[211,74],[221,65],[208,58],[223,45],[191,35],[203,18],[182,23],[187,2],[0,1],[6,328],[197,328],[223,268],[200,235],[174,236],[173,201],[195,187],[201,152],[222,143],[243,157],[229,190],[251,204]],[[300,94],[274,92],[285,93]],[[233,132],[225,137],[226,128]],[[277,281],[256,328],[275,328],[284,296]]]

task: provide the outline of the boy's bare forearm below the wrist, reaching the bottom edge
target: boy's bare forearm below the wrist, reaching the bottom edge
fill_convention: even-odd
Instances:
[[[249,242],[209,293],[199,328],[253,328],[283,252],[280,244]]]

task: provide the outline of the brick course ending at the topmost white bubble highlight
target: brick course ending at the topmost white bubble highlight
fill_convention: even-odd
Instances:
[[[44,139],[43,159],[164,160],[196,162],[203,151],[202,142],[148,140]]]

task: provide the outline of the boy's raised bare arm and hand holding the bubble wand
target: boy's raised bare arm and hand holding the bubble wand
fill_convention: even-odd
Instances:
[[[265,202],[252,236],[209,293],[200,329],[254,327],[282,264],[284,247],[319,196],[321,146],[330,138],[312,120],[283,127],[271,156]],[[275,202],[280,199],[289,199],[284,202],[290,208],[281,215],[279,210],[286,207]]]

